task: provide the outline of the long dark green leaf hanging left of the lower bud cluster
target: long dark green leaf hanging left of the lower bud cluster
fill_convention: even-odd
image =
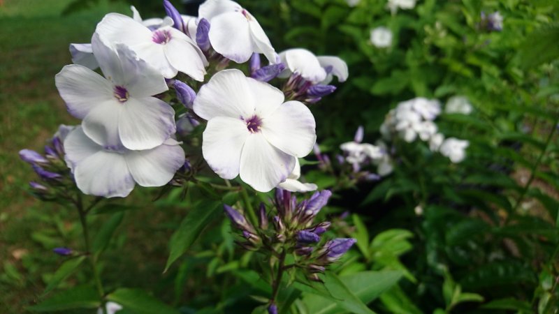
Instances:
[[[221,205],[221,202],[202,201],[191,209],[170,238],[170,253],[165,271],[196,241],[204,227],[222,212]]]

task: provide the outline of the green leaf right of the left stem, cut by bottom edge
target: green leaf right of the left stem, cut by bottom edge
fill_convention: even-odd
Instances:
[[[125,309],[136,314],[178,314],[177,309],[147,294],[144,290],[120,288],[107,296],[110,301],[117,302]]]

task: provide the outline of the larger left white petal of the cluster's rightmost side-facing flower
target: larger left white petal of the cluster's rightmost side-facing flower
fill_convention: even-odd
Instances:
[[[320,66],[317,56],[306,49],[286,50],[286,66],[292,73],[300,74],[305,80],[318,83],[326,79],[326,70]],[[281,57],[281,54],[280,54]]]

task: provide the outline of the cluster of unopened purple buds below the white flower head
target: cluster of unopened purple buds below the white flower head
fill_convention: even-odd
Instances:
[[[254,226],[239,211],[225,205],[225,213],[233,226],[241,231],[243,241],[238,244],[251,251],[295,256],[293,267],[305,271],[312,281],[321,281],[329,264],[338,260],[355,243],[355,239],[323,241],[323,234],[331,223],[316,222],[314,218],[326,205],[332,193],[323,190],[297,201],[287,190],[277,189],[273,205],[275,214],[266,211],[264,204],[258,209],[258,225]]]

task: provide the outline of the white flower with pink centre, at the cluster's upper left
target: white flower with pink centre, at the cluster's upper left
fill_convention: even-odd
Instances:
[[[96,33],[106,45],[123,43],[136,52],[140,59],[157,68],[166,78],[180,71],[202,82],[208,60],[189,36],[170,24],[152,31],[141,22],[118,13],[109,13],[97,24]]]

